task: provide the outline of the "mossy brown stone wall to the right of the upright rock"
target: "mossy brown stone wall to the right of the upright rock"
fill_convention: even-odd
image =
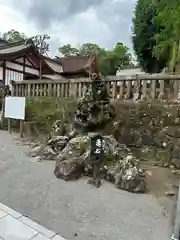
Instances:
[[[113,135],[141,161],[180,168],[180,106],[159,102],[116,103]],[[110,129],[109,129],[110,130]]]

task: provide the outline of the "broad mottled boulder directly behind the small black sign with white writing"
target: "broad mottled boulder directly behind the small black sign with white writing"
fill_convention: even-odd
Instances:
[[[144,192],[146,177],[130,149],[119,144],[113,136],[104,136],[105,178],[115,186],[130,192]],[[58,155],[54,174],[64,180],[78,179],[91,168],[90,136],[71,139]],[[102,169],[103,170],[103,169]],[[104,172],[104,170],[103,170]]]

